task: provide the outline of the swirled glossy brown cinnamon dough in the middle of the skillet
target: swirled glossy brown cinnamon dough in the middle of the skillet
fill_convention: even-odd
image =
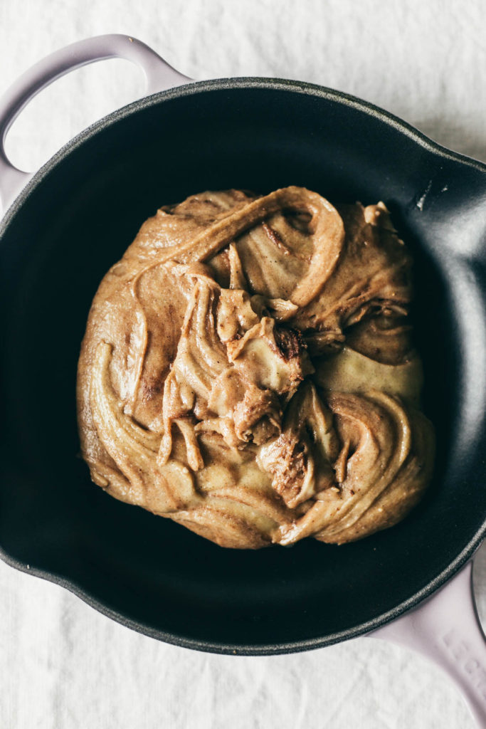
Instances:
[[[111,496],[223,547],[349,542],[431,476],[410,257],[383,203],[303,187],[160,208],[101,281],[78,368]]]

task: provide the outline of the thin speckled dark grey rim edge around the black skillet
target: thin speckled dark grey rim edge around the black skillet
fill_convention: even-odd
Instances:
[[[371,104],[368,101],[363,101],[356,96],[342,93],[337,90],[333,90],[328,87],[321,85],[310,84],[307,82],[293,81],[288,79],[273,79],[273,78],[259,78],[259,77],[238,77],[238,78],[222,78],[212,79],[210,81],[192,82],[185,84],[173,89],[160,91],[149,96],[140,98],[132,103],[122,106],[101,120],[94,122],[92,125],[87,127],[81,133],[77,134],[71,141],[63,145],[58,152],[53,155],[50,160],[42,165],[36,173],[33,174],[31,179],[28,181],[26,186],[21,190],[19,195],[13,200],[12,204],[4,211],[4,216],[0,221],[0,241],[6,233],[8,227],[11,225],[17,214],[20,212],[23,203],[31,195],[34,189],[42,183],[44,178],[50,174],[50,172],[62,162],[68,155],[77,149],[79,146],[92,139],[98,132],[108,128],[115,122],[121,121],[132,114],[155,106],[161,102],[171,101],[176,98],[184,96],[197,95],[198,93],[211,92],[213,90],[284,90],[293,93],[299,93],[303,95],[313,95],[316,98],[324,98],[329,101],[333,101],[343,106],[348,106],[351,109],[357,109],[358,111],[367,114],[369,117],[374,117],[377,120],[385,123],[389,127],[399,131],[404,136],[412,141],[415,141],[420,147],[426,149],[431,155],[442,159],[454,160],[461,165],[474,168],[482,174],[486,174],[486,164],[462,155],[459,152],[452,152],[452,150],[443,147],[437,142],[429,139],[428,136],[420,132],[418,129],[404,122],[399,117],[396,117],[390,112],[386,112],[384,109],[380,109],[379,106]],[[135,619],[126,617],[117,610],[109,608],[106,604],[96,598],[77,582],[71,580],[69,577],[63,574],[55,574],[47,570],[31,568],[26,561],[19,560],[12,555],[7,553],[7,550],[0,545],[0,559],[9,566],[20,570],[20,572],[26,572],[27,574],[33,574],[36,577],[40,577],[49,582],[53,582],[66,588],[71,593],[74,593],[77,597],[82,599],[85,603],[89,604],[90,607],[94,607],[98,612],[106,617],[111,617],[117,623],[125,625],[125,627],[131,628],[138,633],[146,636],[161,640],[166,643],[174,644],[179,647],[190,648],[192,650],[200,650],[204,652],[213,652],[219,654],[228,655],[275,655],[280,653],[299,652],[304,650],[312,650],[327,645],[342,642],[347,639],[351,639],[369,632],[375,631],[382,625],[391,622],[396,619],[404,612],[407,612],[412,607],[417,606],[421,601],[431,596],[436,590],[444,585],[444,582],[450,580],[450,578],[458,572],[458,570],[466,564],[466,561],[471,558],[475,550],[479,547],[482,539],[486,535],[486,521],[482,524],[481,528],[474,534],[469,540],[466,547],[460,552],[456,558],[450,562],[450,564],[433,580],[428,582],[423,588],[418,590],[412,596],[402,601],[399,605],[389,610],[388,612],[378,615],[372,620],[368,620],[364,623],[359,623],[352,628],[347,628],[344,631],[339,631],[333,634],[327,634],[326,636],[319,636],[317,638],[295,640],[290,642],[270,642],[268,644],[224,644],[221,642],[213,642],[211,640],[205,641],[200,639],[187,638],[186,636],[179,636],[173,633],[166,633],[160,631],[157,628],[152,628],[150,625],[138,622]]]

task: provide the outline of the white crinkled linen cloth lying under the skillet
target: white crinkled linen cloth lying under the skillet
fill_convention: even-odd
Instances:
[[[0,0],[0,93],[58,47],[125,33],[190,77],[275,76],[334,87],[486,160],[485,31],[482,0]],[[9,133],[9,155],[34,170],[141,93],[139,72],[123,61],[77,71],[26,109]],[[484,617],[485,550],[475,586]],[[437,668],[383,641],[268,658],[204,655],[133,633],[0,563],[1,729],[228,726],[468,729],[472,722]]]

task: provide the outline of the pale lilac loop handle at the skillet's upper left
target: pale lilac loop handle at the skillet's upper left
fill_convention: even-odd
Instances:
[[[87,38],[51,53],[31,66],[0,98],[0,202],[4,211],[17,197],[31,174],[18,170],[5,154],[5,137],[24,106],[43,88],[69,71],[106,58],[125,58],[144,71],[146,94],[191,81],[136,38],[106,35]]]

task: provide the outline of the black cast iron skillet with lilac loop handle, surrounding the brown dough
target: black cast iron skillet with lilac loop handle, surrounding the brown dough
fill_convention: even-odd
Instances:
[[[81,63],[130,57],[152,90],[183,78],[125,36],[70,52],[20,79],[3,132],[33,91]],[[20,174],[0,161],[5,194]],[[361,542],[225,550],[90,482],[78,455],[79,345],[101,278],[158,206],[200,190],[289,184],[332,202],[384,200],[412,249],[434,481],[408,518]],[[2,558],[130,628],[199,650],[305,650],[398,617],[485,535],[485,263],[486,165],[337,91],[219,79],[96,123],[31,179],[0,228]]]

